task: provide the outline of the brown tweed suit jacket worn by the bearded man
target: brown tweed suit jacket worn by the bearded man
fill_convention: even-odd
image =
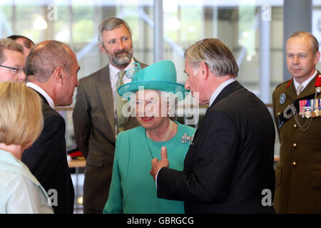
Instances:
[[[141,63],[142,68],[145,66]],[[136,118],[129,117],[125,129],[138,125]],[[73,129],[76,144],[86,157],[83,207],[85,211],[102,213],[111,185],[116,142],[109,64],[79,81]]]

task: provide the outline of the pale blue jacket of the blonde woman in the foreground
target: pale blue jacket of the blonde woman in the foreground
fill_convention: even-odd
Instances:
[[[0,214],[52,214],[48,195],[21,160],[0,150]]]

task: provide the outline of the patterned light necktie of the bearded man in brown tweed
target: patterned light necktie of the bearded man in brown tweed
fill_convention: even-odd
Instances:
[[[118,73],[118,81],[116,83],[116,91],[119,86],[123,85],[123,76],[126,71],[119,71]],[[126,117],[122,113],[123,105],[127,102],[127,100],[123,100],[123,98],[116,92],[116,117],[117,117],[117,134],[121,131],[125,130]]]

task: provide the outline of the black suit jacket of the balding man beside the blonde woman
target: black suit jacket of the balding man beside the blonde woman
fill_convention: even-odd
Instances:
[[[21,161],[47,193],[51,189],[57,191],[58,204],[53,206],[54,212],[72,214],[75,194],[67,162],[65,120],[49,106],[43,95],[39,95],[43,100],[44,129],[34,145],[24,150]],[[51,196],[54,195],[51,193]]]

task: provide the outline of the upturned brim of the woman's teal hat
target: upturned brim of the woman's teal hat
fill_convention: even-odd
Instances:
[[[168,93],[174,93],[178,96],[178,100],[184,100],[188,93],[190,93],[190,90],[186,90],[182,84],[156,80],[126,83],[123,84],[123,86],[119,86],[117,92],[126,100],[130,100],[129,95],[126,92],[136,93],[138,90],[141,90],[141,88],[144,90],[161,90]]]

